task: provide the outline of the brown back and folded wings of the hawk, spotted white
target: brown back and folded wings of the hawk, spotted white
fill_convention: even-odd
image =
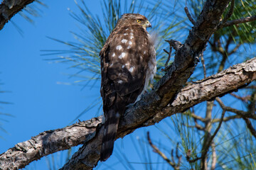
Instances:
[[[144,88],[150,56],[150,42],[143,28],[131,26],[114,30],[113,33],[105,51],[100,53],[103,61],[101,94],[104,108],[112,106],[114,93],[126,105],[134,103]]]

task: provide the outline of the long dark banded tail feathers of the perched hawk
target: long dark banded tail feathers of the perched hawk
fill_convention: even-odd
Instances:
[[[119,113],[114,110],[108,111],[105,115],[104,133],[102,138],[102,149],[100,151],[100,161],[105,162],[112,154],[114,148],[114,140],[117,135],[117,127],[119,123]]]

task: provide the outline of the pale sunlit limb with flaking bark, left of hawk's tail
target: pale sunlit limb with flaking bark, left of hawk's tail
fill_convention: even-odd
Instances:
[[[95,136],[101,122],[101,118],[92,118],[62,129],[41,132],[1,154],[0,169],[21,169],[48,154],[87,142]]]

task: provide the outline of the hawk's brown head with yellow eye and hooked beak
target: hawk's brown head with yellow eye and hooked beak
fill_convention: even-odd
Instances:
[[[149,23],[148,19],[145,16],[142,16],[139,13],[124,13],[121,18],[119,18],[117,22],[117,26],[120,28],[122,26],[142,26],[146,30],[146,28],[151,27],[151,23]],[[117,27],[116,26],[116,27]]]

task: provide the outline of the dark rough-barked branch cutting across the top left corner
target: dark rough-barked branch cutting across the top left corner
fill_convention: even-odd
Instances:
[[[0,30],[18,11],[35,0],[4,0],[0,4]]]

